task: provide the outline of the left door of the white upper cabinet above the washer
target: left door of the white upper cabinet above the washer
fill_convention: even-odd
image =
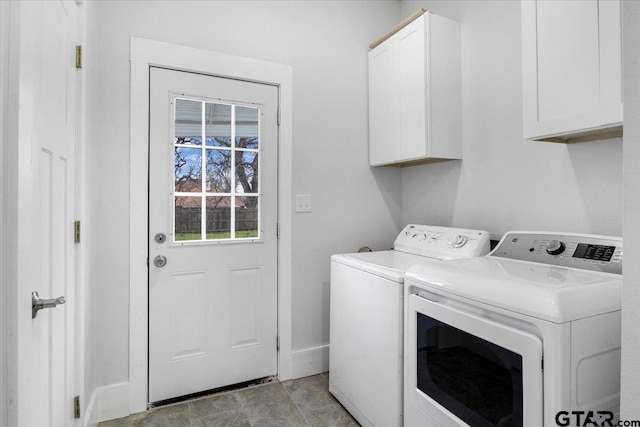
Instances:
[[[400,102],[395,40],[369,52],[369,164],[400,159]]]

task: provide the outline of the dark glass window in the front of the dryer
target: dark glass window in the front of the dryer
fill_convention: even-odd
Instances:
[[[417,386],[472,426],[522,426],[522,356],[421,313]]]

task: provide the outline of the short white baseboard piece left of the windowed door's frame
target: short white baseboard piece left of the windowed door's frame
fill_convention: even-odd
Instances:
[[[129,415],[129,383],[98,387],[93,391],[84,416],[85,427],[95,427],[101,421]]]

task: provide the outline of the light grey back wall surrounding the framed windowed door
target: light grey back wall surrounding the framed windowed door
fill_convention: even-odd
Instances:
[[[293,348],[329,341],[329,257],[389,247],[401,227],[400,170],[370,169],[368,44],[396,1],[89,2],[87,399],[128,379],[129,38],[293,66]]]

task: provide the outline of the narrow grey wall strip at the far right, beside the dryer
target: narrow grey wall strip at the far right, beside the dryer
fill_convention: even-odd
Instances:
[[[640,2],[624,2],[622,419],[640,419]]]

